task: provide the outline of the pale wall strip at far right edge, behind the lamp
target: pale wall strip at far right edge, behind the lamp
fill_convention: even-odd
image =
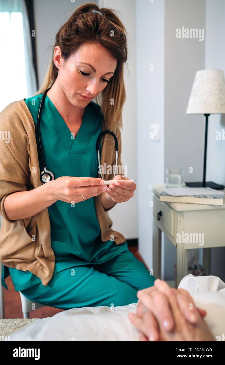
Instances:
[[[225,1],[206,0],[205,68],[225,73]],[[225,130],[225,114],[209,117],[206,178],[225,185],[225,141],[216,141],[216,131]],[[211,271],[225,280],[225,247],[211,249]]]

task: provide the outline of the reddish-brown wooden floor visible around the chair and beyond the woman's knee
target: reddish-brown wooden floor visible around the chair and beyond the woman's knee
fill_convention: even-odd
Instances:
[[[131,251],[139,261],[143,262],[136,246],[129,246],[129,251]],[[3,288],[4,302],[5,302],[5,318],[23,318],[20,294],[19,292],[15,291],[10,276],[8,276],[5,279],[5,283],[8,287],[8,290]],[[45,306],[36,309],[33,312],[30,312],[30,318],[46,318],[62,311],[63,311],[62,309]]]

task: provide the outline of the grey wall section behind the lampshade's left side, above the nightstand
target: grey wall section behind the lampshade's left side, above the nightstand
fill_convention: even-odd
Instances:
[[[205,29],[205,0],[165,1],[164,164],[165,168],[183,167],[184,181],[202,181],[205,120],[203,115],[185,113],[195,73],[205,68],[206,41],[176,38],[176,29],[182,26]],[[193,173],[189,173],[189,167],[193,168]],[[164,257],[170,257],[164,260],[164,277],[171,280],[175,247],[167,238]]]

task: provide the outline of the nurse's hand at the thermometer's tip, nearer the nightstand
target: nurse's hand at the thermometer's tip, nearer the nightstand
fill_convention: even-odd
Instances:
[[[127,177],[122,177],[122,175],[116,175],[113,180],[125,180],[129,181]],[[124,183],[123,181],[115,181],[115,183],[109,185],[106,193],[112,198],[116,203],[122,203],[123,201],[128,201],[136,189],[136,184],[131,181],[130,183]]]

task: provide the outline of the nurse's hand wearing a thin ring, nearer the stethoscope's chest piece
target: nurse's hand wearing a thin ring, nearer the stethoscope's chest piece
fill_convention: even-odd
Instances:
[[[101,183],[102,182],[102,183]],[[98,177],[61,176],[48,184],[52,184],[52,195],[55,200],[66,203],[79,203],[106,190],[104,180]],[[84,196],[84,199],[82,197]]]

